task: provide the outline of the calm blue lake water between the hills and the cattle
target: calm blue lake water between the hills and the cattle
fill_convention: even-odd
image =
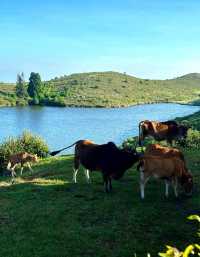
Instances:
[[[42,136],[51,150],[67,146],[79,139],[97,143],[124,139],[138,134],[141,120],[169,120],[200,110],[198,106],[150,104],[128,108],[59,108],[3,107],[0,108],[0,142],[23,130]],[[72,152],[73,149],[69,150]]]

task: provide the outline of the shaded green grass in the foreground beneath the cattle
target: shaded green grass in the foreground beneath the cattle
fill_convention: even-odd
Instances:
[[[145,257],[165,244],[184,248],[197,241],[196,226],[186,220],[200,211],[199,152],[186,153],[194,174],[192,198],[164,197],[162,181],[151,180],[139,197],[139,174],[130,169],[103,192],[101,174],[83,172],[73,184],[73,157],[48,158],[14,185],[1,179],[0,256],[5,257]]]

